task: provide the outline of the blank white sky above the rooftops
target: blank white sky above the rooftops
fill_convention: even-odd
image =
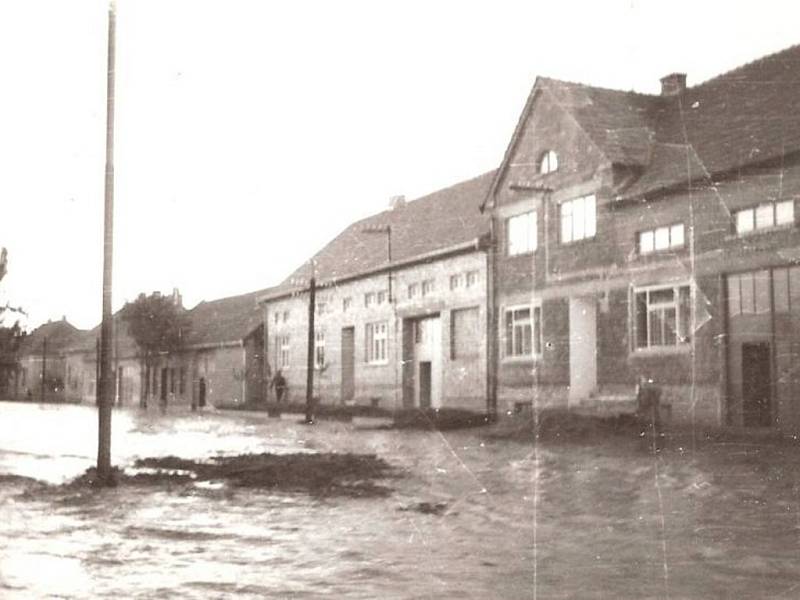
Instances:
[[[390,196],[495,168],[536,75],[696,84],[800,42],[793,5],[119,0],[115,308],[277,284]],[[29,328],[100,319],[106,11],[0,0],[0,301]]]

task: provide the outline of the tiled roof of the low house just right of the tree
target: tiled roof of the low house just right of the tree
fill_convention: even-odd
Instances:
[[[268,290],[201,302],[189,311],[188,345],[224,344],[244,339],[261,324],[258,299]]]

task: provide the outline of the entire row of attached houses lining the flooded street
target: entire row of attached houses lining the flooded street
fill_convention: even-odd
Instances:
[[[353,223],[278,286],[192,309],[118,397],[314,395],[497,413],[653,381],[677,420],[800,426],[800,48],[659,95],[538,78],[502,163]],[[96,332],[64,350],[94,397]]]

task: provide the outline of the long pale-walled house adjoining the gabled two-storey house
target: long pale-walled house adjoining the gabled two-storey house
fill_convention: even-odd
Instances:
[[[322,402],[486,411],[489,220],[478,209],[492,178],[393,199],[264,294],[267,362],[290,400],[305,397],[313,275]]]

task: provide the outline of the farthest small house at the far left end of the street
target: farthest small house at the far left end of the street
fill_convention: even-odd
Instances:
[[[70,371],[63,351],[82,333],[65,317],[48,321],[25,336],[19,349],[13,397],[37,401],[66,399]]]

